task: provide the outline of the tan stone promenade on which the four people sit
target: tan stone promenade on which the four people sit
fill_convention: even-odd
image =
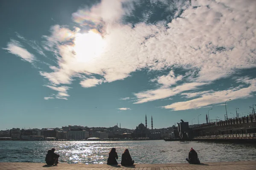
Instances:
[[[67,164],[0,162],[0,170],[256,170],[256,161],[208,162],[193,164],[135,164],[133,167],[106,164]]]

